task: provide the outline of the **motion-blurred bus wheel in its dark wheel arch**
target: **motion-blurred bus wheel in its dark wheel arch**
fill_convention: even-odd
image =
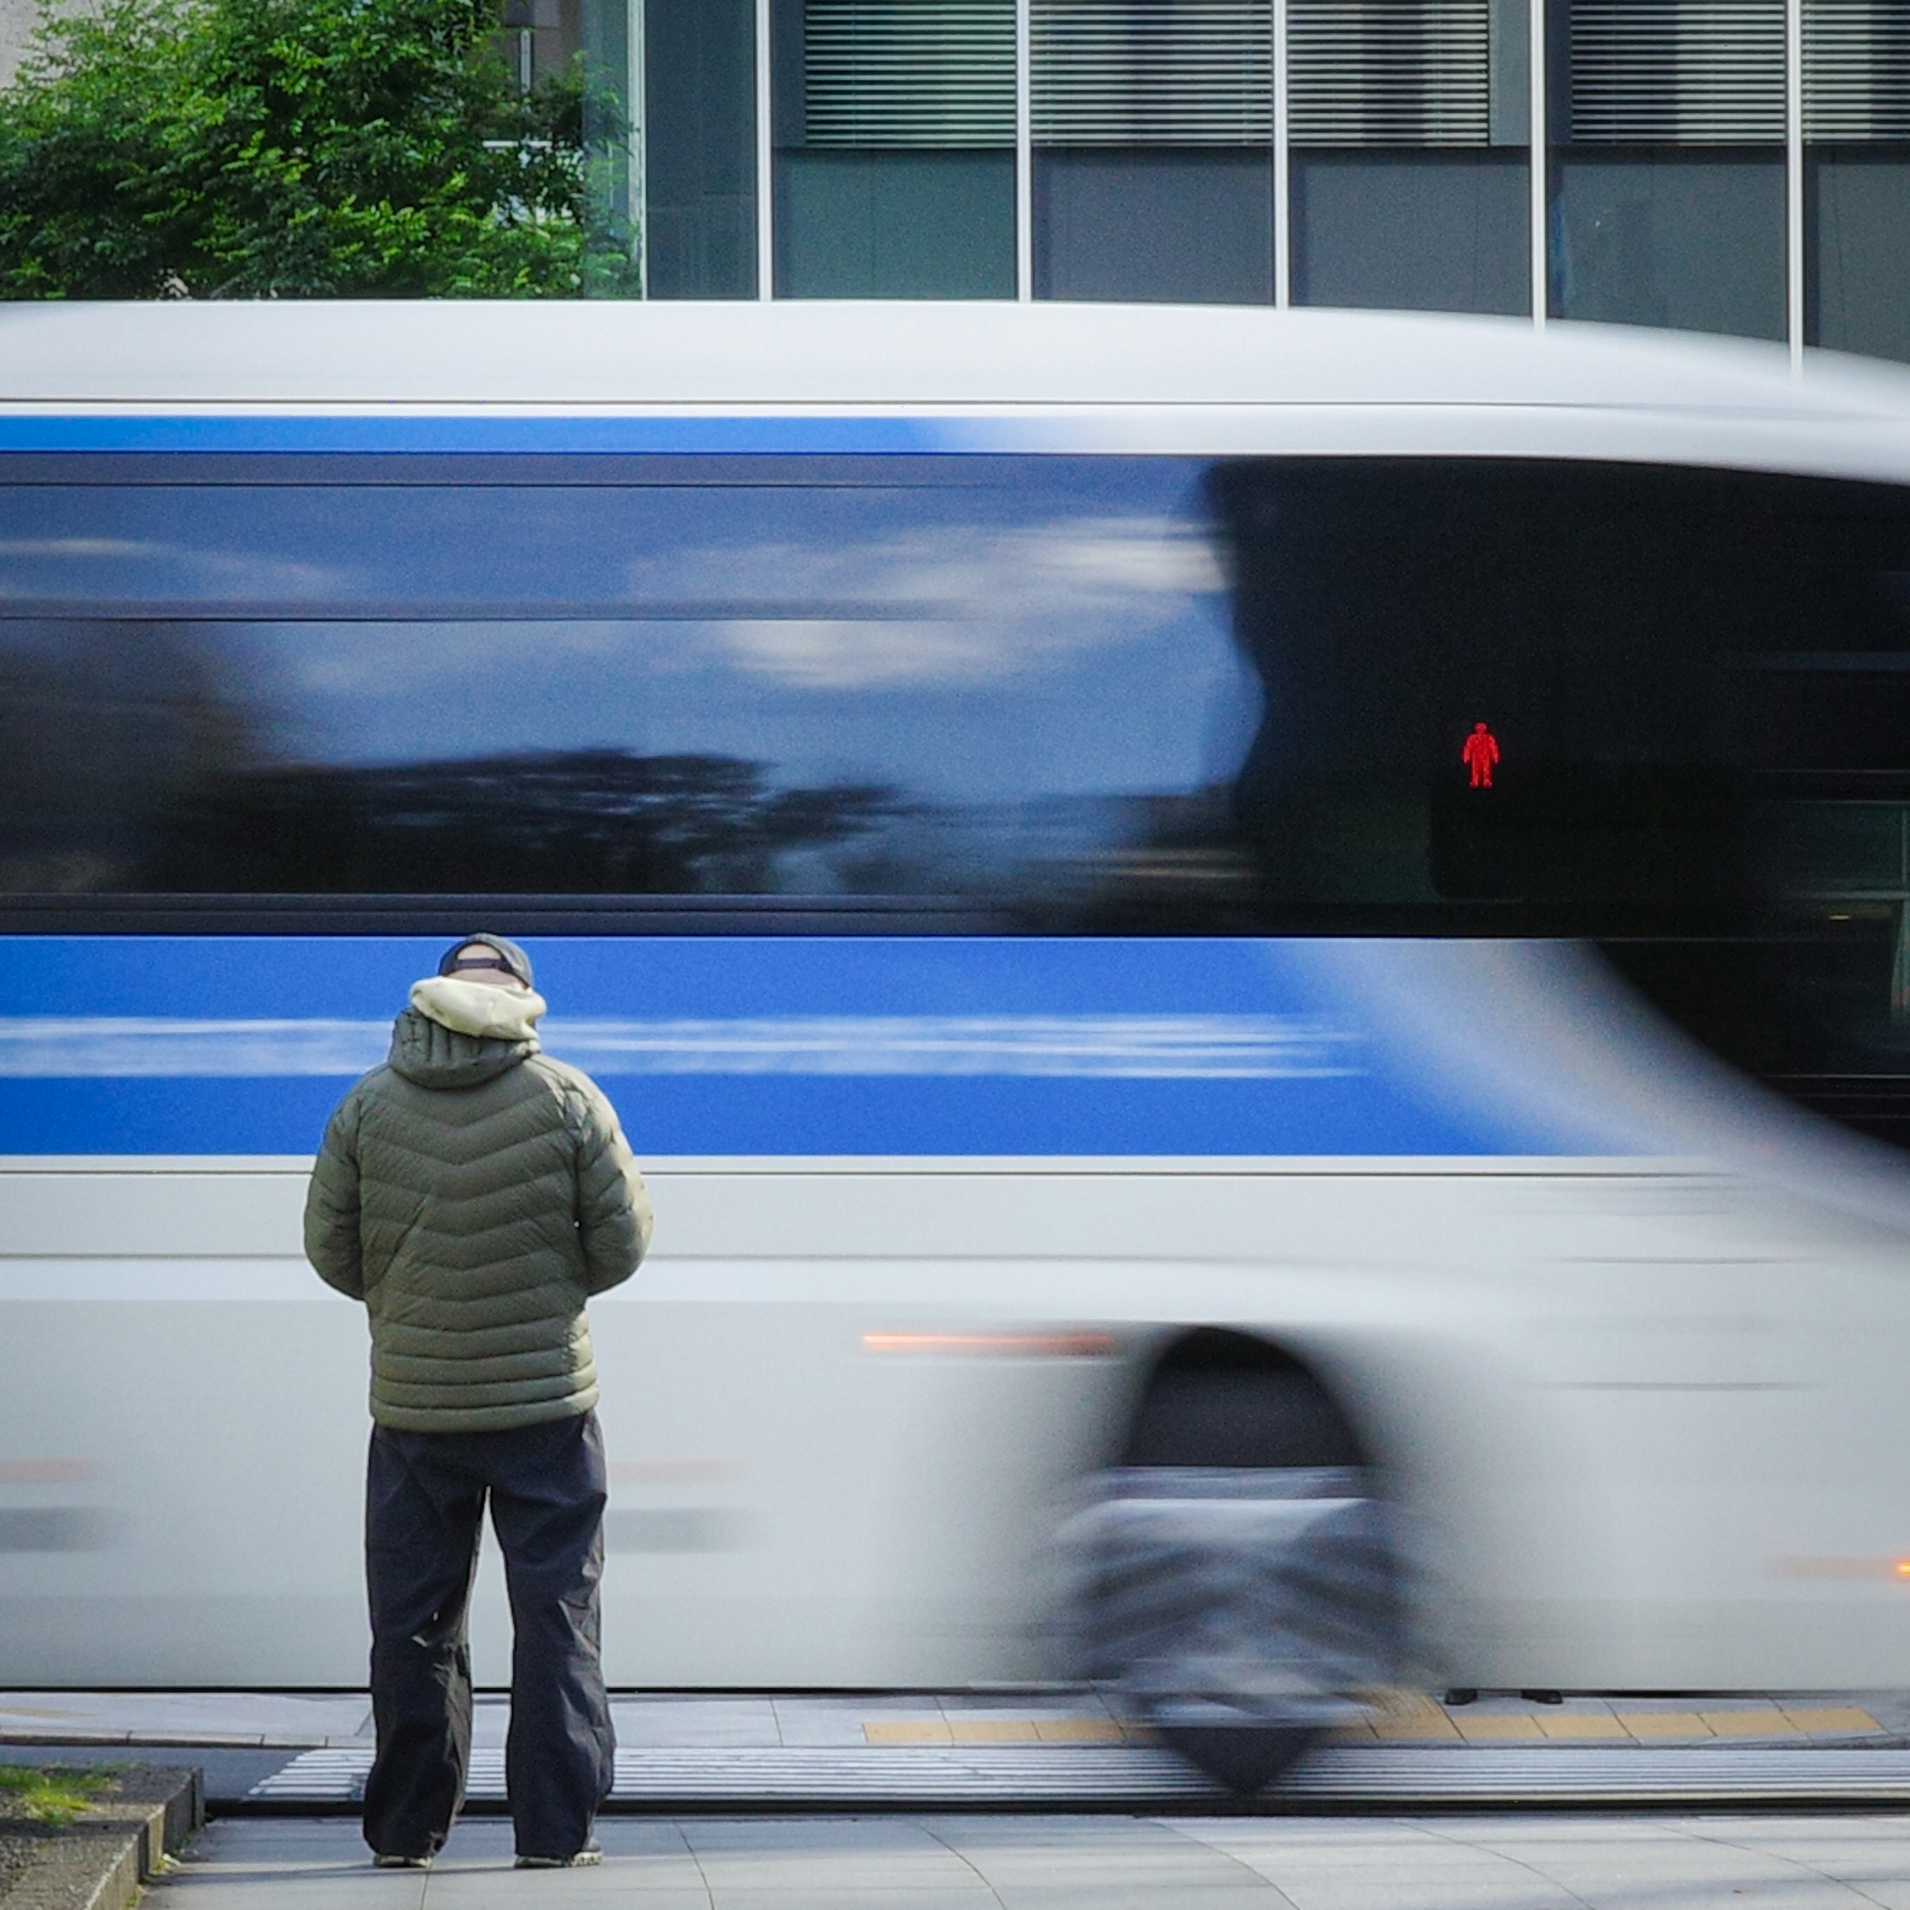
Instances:
[[[1232,1792],[1278,1778],[1392,1669],[1368,1457],[1326,1389],[1264,1341],[1175,1345],[1075,1530],[1091,1675]]]

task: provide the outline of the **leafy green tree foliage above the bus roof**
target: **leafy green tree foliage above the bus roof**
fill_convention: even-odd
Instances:
[[[4,298],[630,290],[613,103],[518,92],[485,0],[101,0],[0,92]]]

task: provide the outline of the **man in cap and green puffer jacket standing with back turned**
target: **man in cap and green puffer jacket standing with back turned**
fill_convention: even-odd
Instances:
[[[485,1496],[510,1585],[518,1864],[598,1862],[615,1738],[584,1301],[636,1272],[651,1219],[609,1102],[539,1049],[542,1012],[523,949],[466,936],[413,984],[306,1196],[306,1257],[371,1314],[365,1841],[380,1866],[430,1864],[464,1797]]]

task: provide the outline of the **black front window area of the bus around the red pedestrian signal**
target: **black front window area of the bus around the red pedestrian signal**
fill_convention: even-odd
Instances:
[[[1597,938],[1730,1060],[1910,1140],[1910,495],[1496,460],[1213,493],[1270,921]]]

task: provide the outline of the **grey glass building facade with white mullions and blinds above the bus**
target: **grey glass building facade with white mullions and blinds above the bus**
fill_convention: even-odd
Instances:
[[[1910,0],[523,4],[541,57],[623,90],[651,298],[1536,311],[1910,357]]]

